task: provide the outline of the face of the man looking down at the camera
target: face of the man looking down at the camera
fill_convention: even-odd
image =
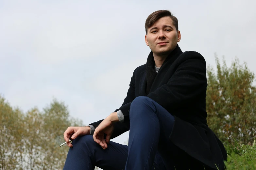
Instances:
[[[146,45],[153,54],[169,54],[180,41],[180,32],[176,30],[171,17],[162,17],[147,29]]]

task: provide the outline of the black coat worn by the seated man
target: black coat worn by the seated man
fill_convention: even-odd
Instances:
[[[195,51],[182,52],[177,45],[157,74],[154,65],[151,51],[147,63],[134,70],[124,103],[115,110],[123,112],[125,121],[115,123],[111,138],[129,130],[129,108],[134,98],[147,96],[175,117],[169,140],[181,155],[176,157],[179,160],[175,160],[177,170],[181,170],[178,167],[184,167],[182,164],[186,163],[190,164],[191,170],[201,169],[202,165],[206,170],[216,169],[216,166],[223,170],[226,150],[206,120],[205,59]],[[101,121],[91,124],[96,128]]]

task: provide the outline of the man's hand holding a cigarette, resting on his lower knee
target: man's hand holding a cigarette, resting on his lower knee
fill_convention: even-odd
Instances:
[[[67,142],[68,147],[73,147],[73,145],[69,142],[69,139],[76,139],[77,136],[82,135],[90,135],[91,128],[89,126],[85,127],[68,127],[64,132],[64,140]]]

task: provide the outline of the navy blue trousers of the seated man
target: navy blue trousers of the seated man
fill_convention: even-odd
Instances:
[[[172,170],[175,150],[169,141],[174,117],[154,100],[136,97],[130,106],[127,145],[110,141],[102,149],[92,135],[77,137],[63,170]]]

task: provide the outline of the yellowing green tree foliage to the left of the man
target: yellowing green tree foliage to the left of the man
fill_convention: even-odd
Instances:
[[[13,109],[0,96],[0,170],[62,169],[68,147],[63,132],[69,126],[82,126],[70,118],[67,106],[53,100],[40,112],[32,108],[26,114]]]

